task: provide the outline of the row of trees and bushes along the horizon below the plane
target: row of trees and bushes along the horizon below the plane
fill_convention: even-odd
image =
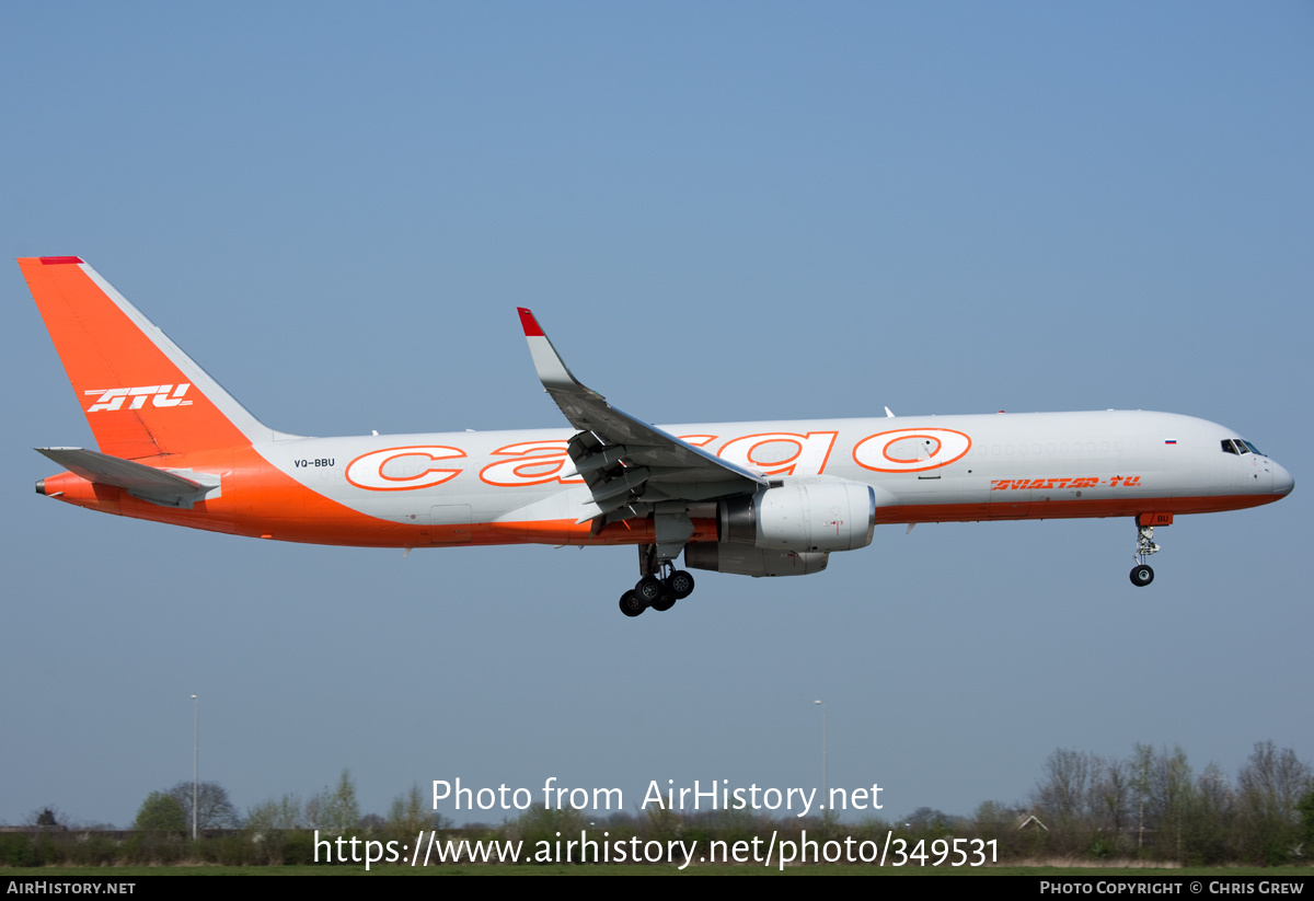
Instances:
[[[555,841],[607,831],[615,839],[752,841],[773,831],[798,841],[853,837],[878,843],[888,830],[909,842],[936,838],[995,841],[1000,862],[1041,859],[1301,864],[1314,858],[1314,770],[1290,749],[1259,742],[1230,779],[1215,764],[1198,774],[1180,747],[1135,745],[1106,758],[1058,749],[1045,760],[1026,802],[987,801],[972,816],[920,808],[894,821],[842,824],[833,814],[771,820],[748,810],[681,813],[653,809],[597,818],[582,810],[531,808],[497,825],[453,829],[413,785],[386,816],[360,813],[351,774],[302,801],[283,795],[238,814],[227,792],[201,783],[198,841],[191,841],[192,783],[151,792],[130,830],[66,831],[51,808],[29,817],[32,831],[0,831],[0,866],[138,864],[208,862],[293,864],[314,862],[314,835],[414,842],[420,830],[481,841]]]

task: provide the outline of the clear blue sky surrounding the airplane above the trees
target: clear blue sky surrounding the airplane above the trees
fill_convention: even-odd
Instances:
[[[12,265],[0,822],[411,785],[1029,793],[1055,747],[1314,757],[1314,9],[9,4],[0,244],[75,253],[271,426],[564,424],[515,306],[652,422],[1142,407],[1296,477],[1184,517],[878,531],[827,573],[264,544],[38,498],[88,445]],[[444,810],[449,816],[451,810]],[[464,817],[456,816],[457,820]],[[480,817],[493,818],[493,817]]]

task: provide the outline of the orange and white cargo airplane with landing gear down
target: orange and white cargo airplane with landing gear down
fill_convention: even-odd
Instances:
[[[37,494],[280,541],[402,548],[633,545],[620,609],[670,609],[689,569],[809,575],[878,524],[1126,516],[1131,583],[1173,517],[1290,494],[1235,431],[1096,411],[652,426],[562,363],[519,309],[570,428],[304,437],[260,423],[76,256],[20,259],[99,450],[37,448]],[[685,556],[687,569],[677,569]]]

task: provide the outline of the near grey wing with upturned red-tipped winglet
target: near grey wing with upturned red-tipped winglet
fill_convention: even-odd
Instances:
[[[593,493],[593,503],[578,521],[591,519],[597,531],[607,523],[646,516],[662,503],[696,503],[766,487],[762,475],[635,419],[581,385],[533,314],[524,307],[519,313],[543,387],[579,429],[570,439],[570,460]]]

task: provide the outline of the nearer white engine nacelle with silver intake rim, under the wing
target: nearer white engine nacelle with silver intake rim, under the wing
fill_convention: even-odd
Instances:
[[[846,479],[784,479],[716,504],[721,542],[762,549],[854,550],[871,544],[875,528],[875,490]]]

